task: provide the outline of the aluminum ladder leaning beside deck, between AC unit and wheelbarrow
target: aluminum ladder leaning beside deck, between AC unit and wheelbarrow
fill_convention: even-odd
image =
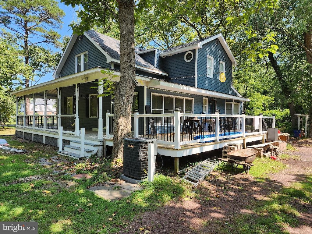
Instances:
[[[206,159],[198,163],[192,170],[185,173],[183,180],[195,187],[219,164],[220,161]]]

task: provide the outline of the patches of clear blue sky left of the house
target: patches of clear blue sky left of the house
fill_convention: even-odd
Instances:
[[[61,38],[64,37],[65,35],[71,36],[72,34],[72,30],[71,27],[69,27],[68,25],[72,22],[72,21],[76,21],[77,16],[76,16],[76,10],[78,9],[78,7],[72,8],[71,6],[66,6],[63,2],[61,2],[60,0],[57,0],[59,2],[59,7],[65,12],[65,16],[63,18],[63,28],[62,29],[58,29],[57,32],[61,34]],[[55,48],[51,48],[53,49],[53,51],[57,51]],[[49,80],[53,80],[52,78],[53,72],[50,72],[48,74],[46,74],[46,76],[42,77],[37,83],[43,83]]]

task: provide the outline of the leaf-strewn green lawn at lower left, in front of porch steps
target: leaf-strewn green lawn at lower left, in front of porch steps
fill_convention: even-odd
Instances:
[[[0,152],[0,220],[37,221],[38,233],[115,233],[139,213],[189,194],[188,185],[178,178],[158,175],[153,183],[142,184],[143,190],[109,202],[88,188],[113,177],[108,173],[112,174],[110,160],[101,164],[88,160],[76,165],[67,162],[41,166],[38,158],[56,156],[55,147],[4,138],[12,147],[26,149],[27,153]],[[53,175],[60,168],[62,173]],[[69,176],[80,171],[93,177],[75,180]],[[34,177],[37,179],[32,180]],[[84,211],[79,212],[79,208]]]

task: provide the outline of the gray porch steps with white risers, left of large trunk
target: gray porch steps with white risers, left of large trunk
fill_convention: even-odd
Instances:
[[[80,141],[70,141],[69,145],[64,145],[63,148],[62,151],[57,151],[57,153],[71,158],[80,159],[89,158],[93,154],[96,154],[100,148],[100,144],[85,142],[85,153],[83,156],[80,155]]]

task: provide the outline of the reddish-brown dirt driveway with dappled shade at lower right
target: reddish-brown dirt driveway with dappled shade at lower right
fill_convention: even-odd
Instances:
[[[207,181],[198,186],[193,197],[172,202],[153,212],[145,212],[119,233],[143,234],[144,230],[150,230],[153,234],[252,233],[245,232],[244,223],[237,221],[238,215],[256,216],[252,209],[254,203],[269,200],[272,193],[279,193],[292,183],[303,181],[307,174],[312,174],[312,140],[290,141],[298,151],[286,151],[294,156],[283,160],[287,168],[271,174],[263,182],[259,183],[251,175],[244,173],[213,172]],[[311,205],[303,204],[304,207],[301,208],[298,203],[291,205],[296,206],[300,212],[299,225],[295,228],[283,227],[277,233],[311,234]],[[253,215],[249,215],[250,222],[253,222]],[[235,223],[234,229],[231,228],[231,223]],[[240,225],[242,229],[237,227]],[[140,227],[145,229],[140,232]],[[261,230],[259,233],[268,232]]]

